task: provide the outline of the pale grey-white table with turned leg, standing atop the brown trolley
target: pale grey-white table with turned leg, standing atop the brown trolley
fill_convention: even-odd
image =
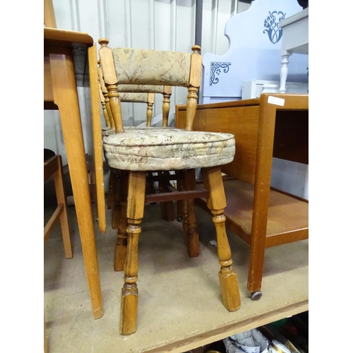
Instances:
[[[286,92],[289,56],[309,54],[309,7],[280,22],[282,28],[280,93]]]

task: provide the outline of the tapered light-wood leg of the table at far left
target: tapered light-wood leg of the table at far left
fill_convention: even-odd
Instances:
[[[95,318],[100,318],[103,315],[100,273],[73,56],[70,48],[50,47],[48,51],[54,103],[59,107],[92,311]]]

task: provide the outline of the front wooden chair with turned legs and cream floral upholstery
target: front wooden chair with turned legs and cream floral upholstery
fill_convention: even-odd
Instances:
[[[124,286],[121,290],[122,335],[136,332],[138,306],[138,236],[143,219],[145,201],[188,200],[188,226],[193,222],[190,209],[198,191],[186,190],[163,195],[145,194],[147,172],[180,170],[185,180],[195,176],[201,168],[208,208],[213,213],[217,234],[217,252],[220,261],[220,288],[222,302],[229,311],[240,307],[237,275],[232,268],[232,254],[225,229],[226,206],[221,165],[232,162],[235,153],[234,135],[229,133],[205,133],[193,131],[197,92],[201,83],[202,57],[200,47],[192,48],[193,54],[145,49],[107,47],[101,39],[99,50],[104,83],[108,90],[109,104],[114,116],[116,133],[103,138],[104,156],[109,167],[123,170],[128,179],[126,193],[126,240],[119,247],[126,253],[124,262]],[[119,80],[118,80],[119,78]],[[164,129],[128,132],[121,119],[118,84],[170,85],[188,89],[187,124],[185,130]],[[116,112],[118,112],[116,114]],[[186,189],[193,187],[186,183]],[[190,185],[189,185],[190,184]],[[200,196],[198,196],[200,197]],[[190,223],[189,223],[190,222]],[[189,228],[192,231],[192,227]],[[124,236],[124,234],[121,234]]]

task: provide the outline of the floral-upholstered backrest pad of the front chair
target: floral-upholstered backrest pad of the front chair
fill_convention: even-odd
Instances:
[[[112,48],[119,85],[187,87],[191,54],[149,49]]]

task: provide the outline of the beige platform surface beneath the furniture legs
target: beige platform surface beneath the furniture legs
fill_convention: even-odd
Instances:
[[[44,208],[44,220],[51,211],[52,208]],[[139,241],[138,328],[133,335],[122,336],[119,302],[124,274],[113,270],[116,231],[110,227],[110,212],[107,234],[100,233],[95,225],[104,308],[104,316],[95,320],[76,211],[69,207],[73,258],[64,257],[59,225],[44,244],[44,313],[49,353],[140,353],[152,349],[187,352],[191,347],[203,345],[210,335],[215,341],[226,337],[226,333],[256,327],[258,318],[263,318],[261,324],[275,321],[270,320],[269,313],[282,312],[276,316],[282,318],[286,307],[309,298],[308,241],[266,250],[263,297],[251,301],[246,290],[249,246],[228,231],[241,308],[232,313],[227,311],[220,297],[217,248],[210,243],[215,240],[215,228],[210,215],[201,209],[196,211],[201,254],[189,258],[181,223],[161,220],[159,205],[145,207]],[[181,340],[183,347],[175,343]],[[167,350],[166,345],[174,348]]]

